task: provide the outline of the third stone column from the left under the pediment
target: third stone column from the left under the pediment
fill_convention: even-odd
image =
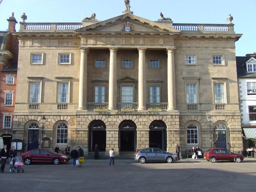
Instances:
[[[138,77],[138,111],[147,110],[146,106],[146,49],[139,51],[139,77]]]

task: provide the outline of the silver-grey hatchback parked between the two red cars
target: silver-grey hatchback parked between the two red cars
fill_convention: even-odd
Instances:
[[[134,154],[134,160],[139,161],[140,163],[145,163],[147,161],[166,161],[167,163],[171,163],[177,161],[178,157],[173,153],[149,147],[138,150]]]

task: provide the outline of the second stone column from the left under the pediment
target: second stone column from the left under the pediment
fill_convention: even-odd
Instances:
[[[110,48],[109,62],[109,108],[117,110],[117,48]]]

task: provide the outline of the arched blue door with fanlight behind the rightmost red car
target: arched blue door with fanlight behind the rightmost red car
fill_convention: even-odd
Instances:
[[[223,123],[218,123],[215,129],[216,147],[227,148],[227,128]]]

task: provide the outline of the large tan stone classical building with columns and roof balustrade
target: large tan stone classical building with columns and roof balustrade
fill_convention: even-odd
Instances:
[[[239,150],[230,24],[149,21],[126,10],[81,23],[20,23],[13,136],[26,150],[98,144],[118,153],[200,146]],[[210,127],[206,117],[211,116]],[[41,118],[46,118],[43,123]],[[211,137],[210,137],[211,129]],[[38,144],[39,143],[39,144]]]

